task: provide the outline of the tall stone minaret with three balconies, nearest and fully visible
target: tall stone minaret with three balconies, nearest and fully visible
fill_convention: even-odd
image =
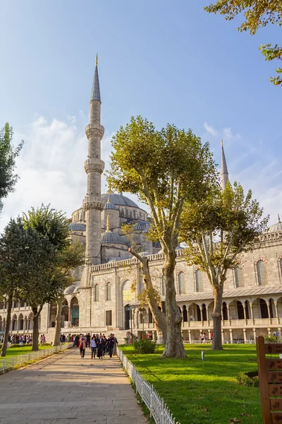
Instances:
[[[101,140],[104,126],[101,119],[101,96],[98,76],[98,55],[94,72],[92,93],[90,98],[90,124],[85,127],[88,139],[88,156],[85,160],[87,174],[87,195],[83,201],[86,220],[86,260],[88,264],[101,263],[101,211],[104,203],[101,198],[101,175],[104,162],[101,160]]]

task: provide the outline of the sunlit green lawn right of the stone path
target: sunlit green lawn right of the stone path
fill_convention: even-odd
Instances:
[[[223,351],[185,345],[187,359],[160,359],[162,347],[153,355],[135,355],[131,346],[121,349],[180,424],[228,424],[235,417],[242,424],[262,424],[259,389],[236,380],[240,371],[257,370],[255,345],[225,345]]]

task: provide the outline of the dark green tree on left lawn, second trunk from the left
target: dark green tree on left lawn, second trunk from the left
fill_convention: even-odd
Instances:
[[[30,278],[25,290],[25,299],[32,307],[33,336],[32,351],[38,351],[38,319],[45,303],[54,302],[62,288],[63,276],[59,271],[61,253],[71,244],[69,223],[65,214],[50,206],[32,208],[23,214],[25,228],[36,230],[48,249],[47,264],[37,270],[34,278]]]

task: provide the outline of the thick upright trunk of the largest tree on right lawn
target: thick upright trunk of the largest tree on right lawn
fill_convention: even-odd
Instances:
[[[174,269],[176,267],[176,252],[170,249],[165,253],[164,278],[166,281],[166,348],[162,358],[185,358],[181,324],[182,314],[176,303],[176,288],[174,285]]]

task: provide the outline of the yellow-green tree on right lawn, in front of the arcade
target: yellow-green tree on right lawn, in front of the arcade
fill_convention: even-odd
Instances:
[[[200,266],[207,273],[214,293],[214,336],[212,348],[222,349],[221,307],[226,273],[262,243],[269,217],[252,199],[249,190],[228,182],[221,192],[213,189],[205,201],[186,203],[181,217],[180,240],[188,245],[188,264]]]

